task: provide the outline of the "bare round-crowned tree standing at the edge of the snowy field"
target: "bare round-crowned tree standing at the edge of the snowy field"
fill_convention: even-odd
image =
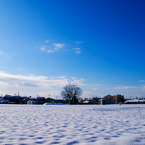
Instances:
[[[82,95],[82,89],[77,85],[66,85],[61,92],[63,98],[70,104],[77,104],[79,97]]]

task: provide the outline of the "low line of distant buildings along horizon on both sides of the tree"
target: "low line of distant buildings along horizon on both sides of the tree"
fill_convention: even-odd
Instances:
[[[45,97],[21,97],[20,95],[5,95],[0,97],[0,104],[67,104],[63,99],[53,99]],[[125,100],[123,95],[106,95],[103,98],[93,97],[93,98],[80,98],[78,99],[78,104],[145,104],[145,99],[136,98],[133,100]]]

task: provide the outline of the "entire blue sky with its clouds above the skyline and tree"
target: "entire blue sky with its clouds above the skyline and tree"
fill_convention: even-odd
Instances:
[[[145,97],[145,2],[0,0],[0,93]]]

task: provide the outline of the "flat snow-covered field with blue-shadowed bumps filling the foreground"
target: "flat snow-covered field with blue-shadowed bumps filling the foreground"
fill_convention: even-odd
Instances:
[[[145,105],[0,105],[0,145],[145,145]]]

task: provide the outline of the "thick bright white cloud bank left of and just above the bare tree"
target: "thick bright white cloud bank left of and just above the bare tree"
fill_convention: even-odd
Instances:
[[[46,76],[13,75],[0,72],[0,91],[4,94],[10,93],[12,95],[19,91],[28,96],[39,94],[47,97],[48,94],[51,94],[54,97],[55,95],[60,96],[60,91],[68,82],[83,85],[83,81],[84,79],[67,78],[66,76],[48,78]]]

